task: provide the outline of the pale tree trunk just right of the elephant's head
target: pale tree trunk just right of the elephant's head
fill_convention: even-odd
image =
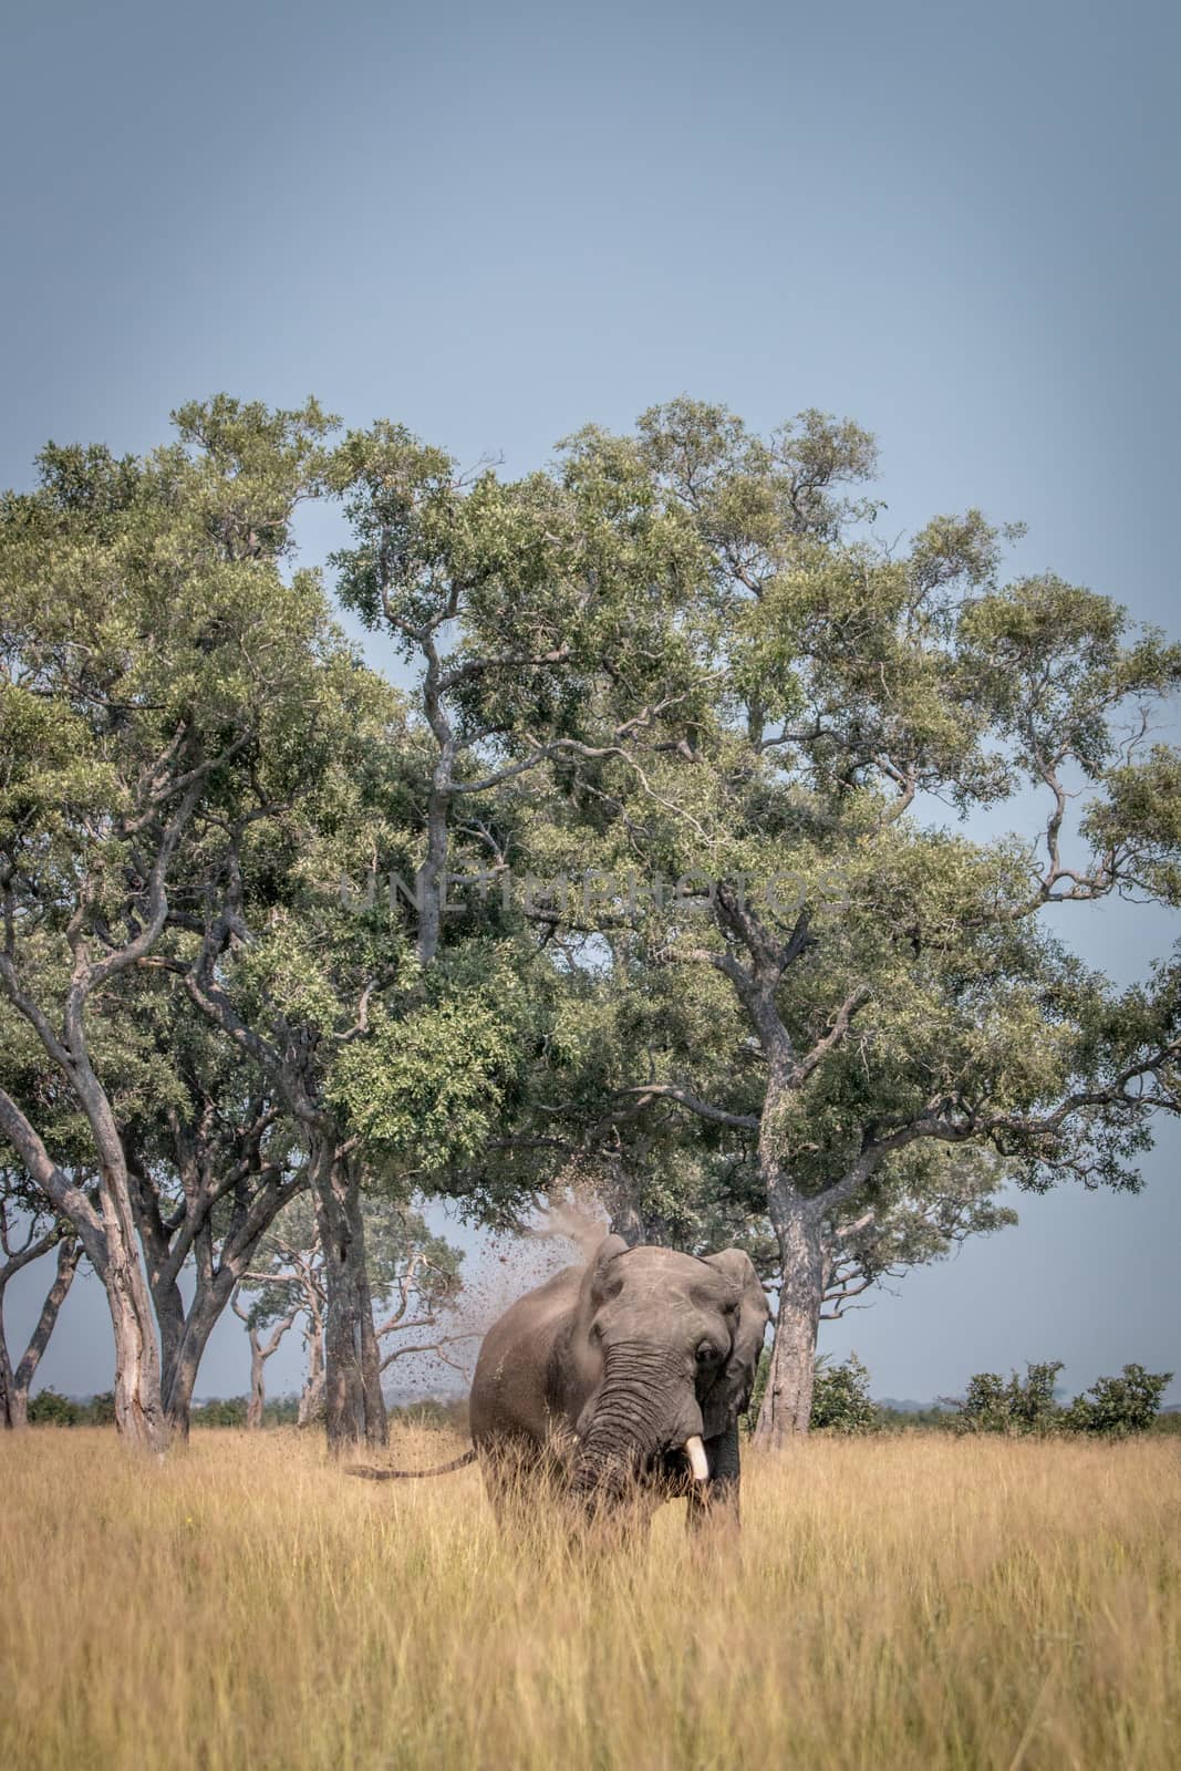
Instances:
[[[823,1302],[823,1236],[816,1204],[786,1185],[772,1188],[770,1218],[779,1241],[779,1311],[754,1443],[783,1450],[807,1433]]]

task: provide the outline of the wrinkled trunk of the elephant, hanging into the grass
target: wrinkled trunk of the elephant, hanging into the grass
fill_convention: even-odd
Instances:
[[[643,1342],[616,1344],[606,1355],[595,1411],[583,1429],[575,1491],[588,1500],[618,1500],[652,1458],[692,1440],[705,1463],[701,1410],[683,1360]],[[698,1475],[699,1465],[692,1463]]]

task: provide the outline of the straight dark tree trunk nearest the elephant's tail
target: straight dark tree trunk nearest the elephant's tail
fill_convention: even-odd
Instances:
[[[335,1450],[386,1443],[381,1355],[365,1268],[361,1188],[352,1162],[315,1164],[315,1218],[324,1250],[324,1422]]]

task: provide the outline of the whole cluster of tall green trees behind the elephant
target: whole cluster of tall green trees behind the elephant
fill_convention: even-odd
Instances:
[[[675,400],[521,480],[315,402],[175,421],[0,507],[0,1133],[108,1288],[124,1431],[305,1188],[338,1442],[384,1435],[367,1197],[575,1178],[751,1249],[779,1443],[825,1311],[1006,1185],[1139,1185],[1177,960],[1117,986],[1064,917],[1181,900],[1181,646],[1006,579],[977,510],[882,542],[816,411]],[[313,496],[402,687],[294,560]]]

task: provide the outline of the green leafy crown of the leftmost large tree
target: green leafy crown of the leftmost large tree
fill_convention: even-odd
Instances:
[[[315,402],[221,397],[142,460],[50,445],[37,489],[0,499],[0,1054],[7,1087],[9,1048],[25,1070],[39,1048],[51,1087],[18,1075],[14,1098],[58,1160],[94,1162],[76,1102],[83,1148],[57,1135],[73,1091],[53,1040],[81,958],[97,976],[73,1061],[85,1045],[120,1123],[147,1123],[181,1096],[140,1034],[142,967],[193,953],[227,831],[235,880],[274,903],[306,838],[294,806],[322,809],[374,703],[315,574],[287,570],[328,429]]]

